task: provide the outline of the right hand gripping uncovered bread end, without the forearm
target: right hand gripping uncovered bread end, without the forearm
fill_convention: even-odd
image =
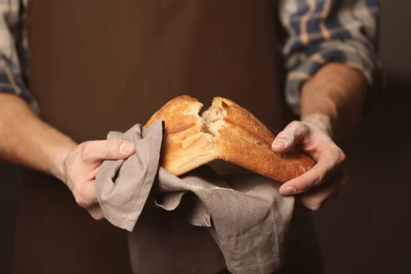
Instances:
[[[284,153],[298,147],[316,161],[316,165],[303,175],[279,188],[282,195],[296,195],[299,202],[310,210],[318,210],[347,182],[344,171],[345,154],[330,136],[326,116],[310,116],[294,121],[280,132],[273,142],[273,151]]]

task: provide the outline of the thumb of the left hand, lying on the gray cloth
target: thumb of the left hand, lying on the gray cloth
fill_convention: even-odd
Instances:
[[[123,140],[98,140],[84,142],[81,155],[86,161],[119,160],[135,152],[134,144]]]

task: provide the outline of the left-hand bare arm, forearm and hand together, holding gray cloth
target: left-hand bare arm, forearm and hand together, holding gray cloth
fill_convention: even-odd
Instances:
[[[103,219],[95,193],[95,176],[104,160],[129,158],[134,144],[99,140],[80,145],[40,120],[17,95],[0,93],[0,158],[62,180],[75,201],[94,219]]]

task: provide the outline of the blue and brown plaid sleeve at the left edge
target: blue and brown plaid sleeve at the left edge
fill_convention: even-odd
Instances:
[[[23,81],[28,71],[29,51],[25,39],[23,2],[0,0],[0,92],[18,95],[38,111],[37,103]]]

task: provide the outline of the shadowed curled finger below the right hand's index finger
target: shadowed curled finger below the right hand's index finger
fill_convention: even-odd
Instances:
[[[298,197],[299,202],[310,210],[319,210],[325,202],[337,197],[338,191],[343,181],[346,180],[343,176],[336,176],[325,186],[304,193]]]

